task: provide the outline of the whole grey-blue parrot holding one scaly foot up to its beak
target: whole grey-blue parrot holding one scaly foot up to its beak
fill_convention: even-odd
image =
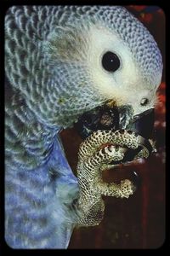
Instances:
[[[99,224],[105,166],[154,151],[150,140],[162,58],[125,7],[12,6],[5,31],[5,241],[12,248],[67,248],[77,226]],[[77,177],[60,132],[83,142]]]

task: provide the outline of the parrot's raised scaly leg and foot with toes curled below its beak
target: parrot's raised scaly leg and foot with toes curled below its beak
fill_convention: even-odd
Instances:
[[[77,165],[79,225],[93,226],[101,222],[105,211],[102,195],[120,198],[133,195],[135,186],[130,180],[124,179],[120,184],[105,183],[102,171],[112,161],[122,161],[128,148],[136,149],[139,146],[140,151],[135,157],[148,157],[150,152],[144,147],[143,137],[127,131],[97,131],[82,143]]]

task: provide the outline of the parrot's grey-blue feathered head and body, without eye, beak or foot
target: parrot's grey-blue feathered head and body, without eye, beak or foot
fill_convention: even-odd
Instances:
[[[94,33],[100,37],[93,38]],[[122,69],[113,77],[93,64],[99,66],[99,56],[109,47],[102,44],[98,52],[99,39],[110,38],[120,43],[120,49],[117,44],[113,48],[122,60]],[[77,224],[72,202],[78,197],[78,185],[60,145],[59,131],[113,96],[117,104],[131,104],[134,113],[152,108],[161,70],[154,38],[122,7],[8,9],[5,233],[10,247],[67,247]],[[127,82],[130,87],[125,87]],[[105,88],[105,84],[111,86]],[[131,89],[135,96],[129,94]],[[149,105],[137,107],[136,95],[139,102],[147,96]]]

